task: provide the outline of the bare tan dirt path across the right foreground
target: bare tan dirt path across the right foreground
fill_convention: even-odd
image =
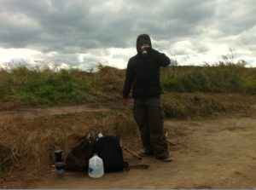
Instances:
[[[108,173],[100,179],[55,171],[28,188],[253,188],[256,187],[256,115],[194,121],[166,121],[186,135],[172,139],[173,161],[154,158],[131,164],[150,164],[148,170]]]

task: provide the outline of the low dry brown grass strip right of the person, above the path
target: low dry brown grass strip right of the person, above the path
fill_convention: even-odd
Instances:
[[[227,112],[251,112],[255,97],[227,93],[166,93],[162,100],[166,118],[211,118]]]

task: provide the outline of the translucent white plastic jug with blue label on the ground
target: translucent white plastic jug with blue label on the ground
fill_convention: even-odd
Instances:
[[[93,178],[102,177],[104,175],[104,165],[102,158],[95,153],[89,160],[88,175]]]

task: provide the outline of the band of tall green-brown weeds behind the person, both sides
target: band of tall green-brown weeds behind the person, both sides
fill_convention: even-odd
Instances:
[[[97,72],[53,72],[17,66],[9,71],[0,70],[0,101],[55,106],[106,98],[116,100],[121,98],[124,80],[125,71],[111,66],[99,65]],[[229,61],[214,66],[169,66],[161,70],[161,85],[166,92],[255,95],[256,68]]]

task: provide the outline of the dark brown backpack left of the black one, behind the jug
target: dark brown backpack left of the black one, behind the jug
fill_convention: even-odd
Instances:
[[[65,170],[86,171],[88,170],[89,159],[93,156],[96,144],[96,135],[93,132],[81,136],[71,152],[67,154]]]

